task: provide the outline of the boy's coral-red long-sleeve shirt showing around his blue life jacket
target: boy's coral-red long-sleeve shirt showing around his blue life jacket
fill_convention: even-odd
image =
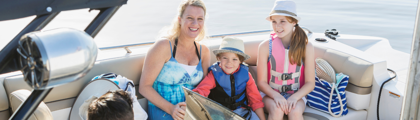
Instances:
[[[238,67],[238,69],[236,69],[235,72],[238,71],[239,68],[241,67]],[[246,94],[247,94],[248,103],[249,103],[248,106],[251,107],[252,110],[255,110],[260,107],[264,107],[264,103],[262,102],[260,92],[257,89],[257,85],[255,85],[255,81],[252,78],[251,73],[248,72],[248,76],[249,76],[249,80],[246,86],[246,90],[247,90]],[[210,90],[215,87],[216,87],[216,83],[215,83],[213,71],[210,71],[207,74],[207,76],[201,81],[201,83],[198,84],[197,88],[192,89],[192,91],[197,91],[200,95],[207,97],[210,94]]]

